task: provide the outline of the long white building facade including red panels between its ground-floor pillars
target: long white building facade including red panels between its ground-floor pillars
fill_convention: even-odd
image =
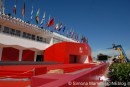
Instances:
[[[0,61],[38,61],[46,48],[63,41],[78,43],[19,18],[0,14]]]

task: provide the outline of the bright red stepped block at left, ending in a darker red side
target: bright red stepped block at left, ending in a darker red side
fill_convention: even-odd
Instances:
[[[34,75],[45,74],[45,66],[1,66],[0,78],[31,78]]]

